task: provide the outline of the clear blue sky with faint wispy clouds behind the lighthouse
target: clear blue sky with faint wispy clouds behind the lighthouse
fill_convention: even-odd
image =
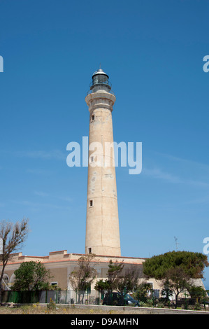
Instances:
[[[29,218],[25,255],[85,251],[87,168],[66,146],[89,132],[99,63],[116,102],[114,139],[143,144],[118,167],[123,256],[203,252],[209,236],[208,1],[1,0],[0,217]],[[205,271],[209,288],[209,270]]]

